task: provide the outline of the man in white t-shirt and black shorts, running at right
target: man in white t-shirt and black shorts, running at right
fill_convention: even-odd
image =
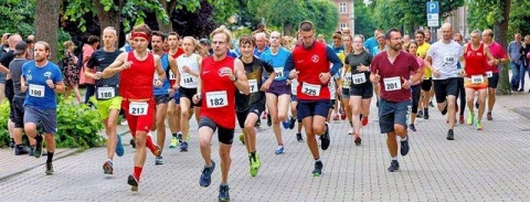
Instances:
[[[442,115],[447,111],[447,140],[455,139],[456,123],[456,95],[458,94],[458,61],[462,68],[466,68],[462,45],[453,41],[453,25],[444,23],[442,25],[443,39],[431,45],[425,57],[427,67],[431,67],[434,81],[434,93],[438,103],[438,110]]]

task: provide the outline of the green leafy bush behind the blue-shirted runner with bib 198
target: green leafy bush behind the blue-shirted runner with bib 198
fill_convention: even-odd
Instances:
[[[104,138],[97,135],[103,124],[97,110],[86,105],[74,103],[73,97],[64,99],[59,96],[57,106],[57,134],[55,142],[57,148],[91,148],[102,146]],[[7,121],[9,117],[9,104],[0,105],[0,147],[9,143]]]

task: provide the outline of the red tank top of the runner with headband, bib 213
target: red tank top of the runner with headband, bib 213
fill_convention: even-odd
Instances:
[[[152,98],[155,79],[155,56],[148,53],[145,61],[138,61],[135,52],[127,53],[130,67],[119,73],[119,95],[129,99]]]

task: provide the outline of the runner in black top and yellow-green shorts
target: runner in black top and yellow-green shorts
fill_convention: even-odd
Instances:
[[[103,173],[114,173],[114,152],[118,157],[124,156],[125,149],[121,145],[121,137],[116,131],[119,109],[121,107],[121,96],[119,95],[119,74],[109,78],[102,78],[103,71],[107,68],[121,54],[116,45],[116,29],[107,26],[103,30],[103,49],[92,54],[86,67],[85,75],[95,79],[95,97],[92,102],[95,104],[99,118],[105,126],[107,134],[107,160],[103,163]],[[93,73],[95,68],[95,73]]]

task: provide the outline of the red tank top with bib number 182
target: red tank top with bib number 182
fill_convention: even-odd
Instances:
[[[227,76],[220,76],[221,68],[234,71],[234,59],[225,56],[214,61],[213,56],[202,60],[202,106],[201,117],[211,118],[227,129],[235,128],[235,84]]]

